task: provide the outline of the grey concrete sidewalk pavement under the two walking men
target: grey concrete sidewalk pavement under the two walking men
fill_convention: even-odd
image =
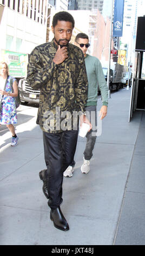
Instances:
[[[0,245],[145,244],[145,114],[136,112],[128,122],[130,94],[111,93],[88,174],[80,170],[85,138],[78,138],[74,175],[63,180],[66,232],[50,221],[39,180],[45,163],[37,108],[19,107],[18,119],[25,121],[16,128],[18,145],[10,147],[10,132],[1,135]]]

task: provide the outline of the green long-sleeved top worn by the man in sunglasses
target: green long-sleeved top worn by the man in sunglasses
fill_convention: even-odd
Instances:
[[[102,105],[108,106],[108,87],[100,60],[87,54],[85,68],[88,77],[88,100],[86,106],[97,106],[98,86],[101,90]]]

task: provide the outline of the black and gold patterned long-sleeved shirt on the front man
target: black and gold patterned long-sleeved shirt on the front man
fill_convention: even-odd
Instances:
[[[36,123],[43,131],[51,133],[76,127],[76,112],[85,112],[88,92],[87,72],[80,48],[69,44],[69,57],[58,65],[52,60],[56,51],[54,40],[35,47],[29,57],[27,72],[30,86],[40,89]]]

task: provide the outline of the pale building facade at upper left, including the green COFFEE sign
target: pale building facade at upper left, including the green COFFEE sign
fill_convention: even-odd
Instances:
[[[48,0],[0,0],[0,60],[19,81],[27,76],[28,56],[46,41]]]

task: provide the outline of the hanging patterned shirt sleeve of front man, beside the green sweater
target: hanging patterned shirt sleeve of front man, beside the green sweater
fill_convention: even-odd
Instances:
[[[84,57],[81,57],[81,69],[75,84],[75,100],[77,104],[77,111],[85,112],[85,105],[88,98],[88,78],[85,69]]]

